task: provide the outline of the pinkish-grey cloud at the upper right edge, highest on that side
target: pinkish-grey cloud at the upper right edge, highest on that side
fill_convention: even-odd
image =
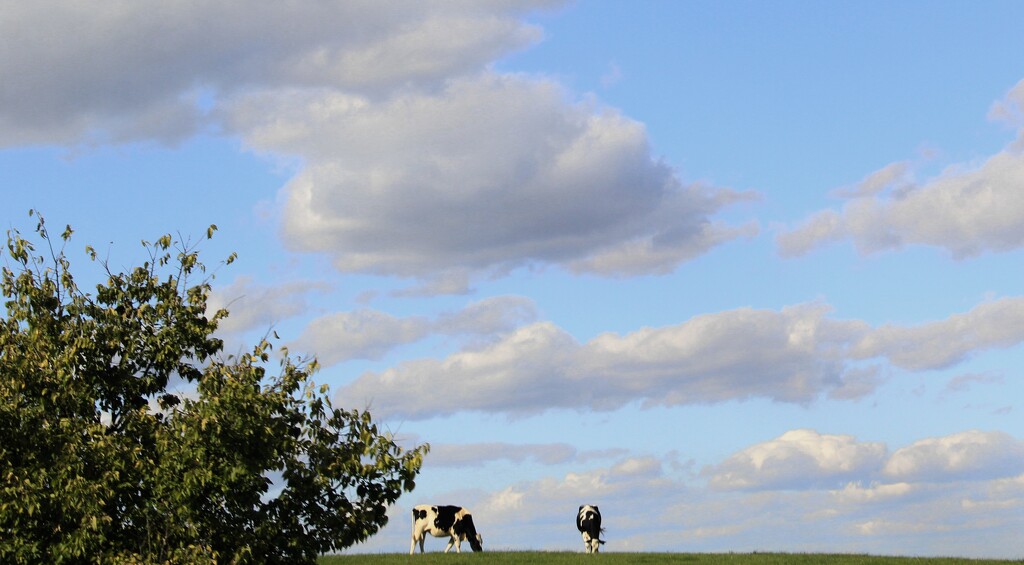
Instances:
[[[989,116],[1022,126],[1021,93],[1015,86]],[[946,250],[954,258],[1006,252],[1024,245],[1024,147],[1011,143],[979,166],[949,167],[914,182],[906,163],[868,175],[857,187],[839,191],[849,199],[841,210],[812,214],[779,233],[783,256],[799,256],[828,242],[849,240],[861,253],[911,245]]]

